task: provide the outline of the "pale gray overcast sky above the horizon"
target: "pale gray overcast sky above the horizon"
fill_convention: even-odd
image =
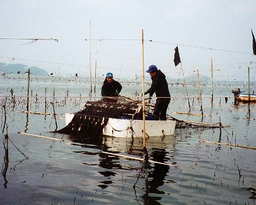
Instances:
[[[142,72],[143,29],[145,70],[155,64],[177,78],[180,64],[175,67],[173,58],[178,44],[185,76],[197,69],[211,76],[212,57],[214,79],[246,81],[248,66],[254,79],[250,29],[256,36],[255,0],[2,0],[0,5],[0,38],[58,39],[0,39],[0,62],[88,76],[91,59],[92,76],[97,60],[98,75],[111,71],[114,78],[135,79]]]

